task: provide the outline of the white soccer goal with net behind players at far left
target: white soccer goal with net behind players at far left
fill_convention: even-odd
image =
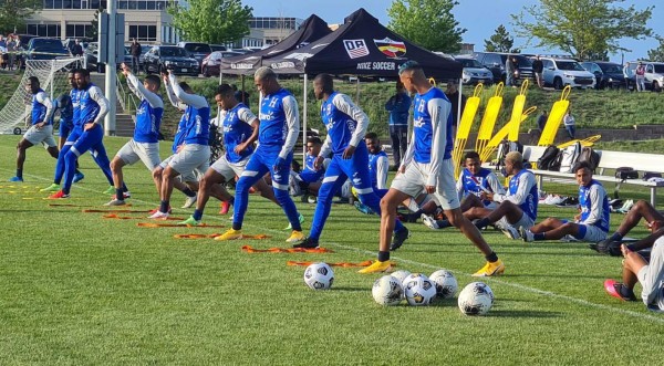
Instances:
[[[79,61],[79,57],[25,61],[21,83],[0,111],[0,134],[20,135],[30,124],[32,94],[25,90],[28,77],[37,76],[41,88],[53,100],[71,90],[66,74]]]

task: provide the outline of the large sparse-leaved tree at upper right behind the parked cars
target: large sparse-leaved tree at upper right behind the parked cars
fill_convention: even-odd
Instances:
[[[525,7],[526,13],[512,14],[518,36],[535,46],[558,48],[581,60],[606,52],[626,50],[618,43],[622,38],[645,39],[652,35],[646,27],[653,7],[637,11],[634,6],[621,8],[624,0],[540,0],[540,4]],[[529,22],[529,18],[535,21]]]

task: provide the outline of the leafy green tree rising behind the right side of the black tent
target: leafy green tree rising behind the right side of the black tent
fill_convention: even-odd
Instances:
[[[452,14],[457,4],[454,0],[394,0],[387,9],[387,27],[427,50],[456,53],[466,32]]]

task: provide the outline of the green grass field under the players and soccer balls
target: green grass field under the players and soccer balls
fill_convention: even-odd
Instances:
[[[19,136],[0,137],[0,180],[13,176]],[[113,155],[124,143],[106,138]],[[163,144],[163,155],[169,146]],[[72,198],[52,202],[38,190],[51,182],[54,160],[28,153],[25,182],[0,182],[0,364],[243,364],[243,365],[657,365],[664,316],[642,303],[608,296],[602,283],[619,278],[621,261],[581,243],[525,244],[500,232],[486,239],[507,264],[486,279],[496,295],[484,317],[461,315],[455,301],[430,307],[382,307],[371,286],[380,275],[335,269],[334,287],[314,292],[304,268],[288,260],[360,262],[374,259],[378,219],[335,206],[322,238],[328,254],[249,254],[243,244],[287,247],[281,210],[252,197],[247,233],[264,241],[174,239],[175,233],[224,229],[137,227],[103,219],[107,182],[89,156],[85,180]],[[134,210],[156,207],[145,167],[125,170]],[[549,186],[548,189],[553,189]],[[573,194],[573,186],[560,192]],[[625,197],[646,192],[624,191]],[[184,197],[174,195],[174,207]],[[73,205],[73,206],[54,206]],[[313,205],[297,203],[308,218]],[[204,221],[229,227],[210,201]],[[186,218],[190,211],[176,209]],[[541,207],[540,217],[572,209]],[[612,229],[622,219],[612,216]],[[464,286],[484,259],[455,230],[408,224],[412,238],[393,254],[400,269],[430,274],[452,270]],[[631,236],[645,234],[639,228]]]

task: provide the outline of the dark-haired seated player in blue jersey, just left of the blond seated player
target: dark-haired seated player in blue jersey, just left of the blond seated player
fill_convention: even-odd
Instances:
[[[498,177],[491,169],[483,168],[479,160],[479,154],[469,151],[464,157],[466,168],[461,170],[457,179],[457,194],[461,200],[461,212],[467,212],[474,207],[486,208],[489,210],[498,207],[498,203],[490,200],[483,200],[483,192],[494,192],[505,195],[505,188],[500,185]],[[430,229],[445,229],[452,227],[449,220],[436,220],[433,217],[423,213],[422,222]]]

